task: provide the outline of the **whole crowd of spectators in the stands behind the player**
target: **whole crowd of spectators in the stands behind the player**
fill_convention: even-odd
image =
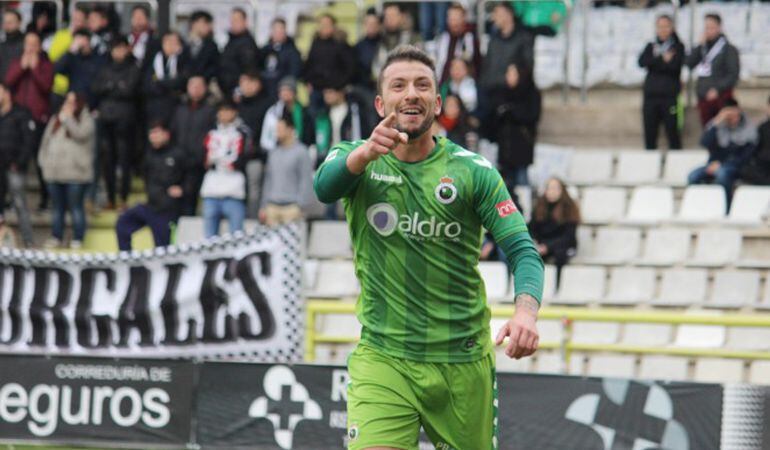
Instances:
[[[437,12],[423,11],[428,8]],[[21,15],[6,9],[0,198],[10,198],[17,212],[22,244],[36,245],[24,188],[30,165],[46,187],[38,208],[51,206],[50,248],[65,246],[66,214],[73,228],[68,245],[82,246],[89,209],[120,212],[122,250],[144,226],[156,245],[167,245],[181,215],[202,214],[207,237],[220,232],[222,219],[236,231],[246,218],[275,225],[302,217],[312,172],[329,149],[367,138],[378,122],[375,80],[387,52],[400,44],[422,46],[436,61],[444,106],[435,132],[473,151],[481,139],[495,142],[497,167],[515,194],[516,186],[530,184],[542,110],[534,42],[558,32],[566,12],[549,2],[496,3],[484,46],[463,6],[421,3],[419,12],[418,32],[398,4],[386,4],[381,14],[367,11],[354,46],[335,17],[321,15],[303,59],[283,19],[272,21],[269,42],[260,47],[238,8],[221,49],[205,10],[191,14],[183,37],[156,33],[143,6],[133,8],[127,35],[117,32],[111,11],[98,6],[78,7],[61,30],[51,26],[50,13],[40,13],[26,32]],[[758,131],[734,99],[739,55],[719,16],[706,16],[702,40],[689,52],[670,17],[656,24],[657,35],[639,58],[648,70],[646,147],[656,148],[664,126],[669,148],[681,148],[687,65],[696,75],[702,144],[711,152],[709,164],[689,181],[723,185],[728,199],[739,178],[770,184],[770,123]],[[299,100],[301,85],[307,105]],[[147,201],[129,205],[137,176],[144,178]],[[327,215],[336,217],[336,209]],[[531,224],[540,253],[566,264],[579,220],[564,183],[549,180]],[[495,254],[489,243],[483,256]]]

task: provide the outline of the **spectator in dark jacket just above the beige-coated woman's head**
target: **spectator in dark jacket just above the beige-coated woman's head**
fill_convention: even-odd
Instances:
[[[68,77],[69,90],[85,95],[89,107],[95,107],[91,83],[106,62],[106,56],[93,51],[91,34],[87,30],[77,30],[69,51],[56,63],[56,73]]]

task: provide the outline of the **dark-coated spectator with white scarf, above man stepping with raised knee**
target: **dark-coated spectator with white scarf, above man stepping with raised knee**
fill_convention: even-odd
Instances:
[[[182,37],[166,32],[161,49],[155,53],[144,76],[145,114],[147,121],[168,122],[187,86],[187,53]]]

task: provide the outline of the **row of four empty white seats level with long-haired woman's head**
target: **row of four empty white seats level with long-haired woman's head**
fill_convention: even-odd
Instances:
[[[674,211],[674,192],[670,187],[635,188],[630,201],[622,187],[583,189],[580,212],[584,223],[728,224],[756,226],[770,212],[770,187],[740,186],[736,189],[730,213],[726,213],[724,189],[715,185],[693,185],[685,189],[679,211]]]

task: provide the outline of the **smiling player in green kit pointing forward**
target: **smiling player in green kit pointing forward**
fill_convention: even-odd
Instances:
[[[509,338],[508,357],[537,349],[543,262],[497,170],[431,135],[441,97],[424,52],[388,55],[374,105],[384,119],[369,139],[334,147],[314,182],[321,201],[343,199],[361,282],[348,448],[416,450],[422,425],[437,449],[495,449],[482,227],[516,279],[516,312],[496,338]]]

